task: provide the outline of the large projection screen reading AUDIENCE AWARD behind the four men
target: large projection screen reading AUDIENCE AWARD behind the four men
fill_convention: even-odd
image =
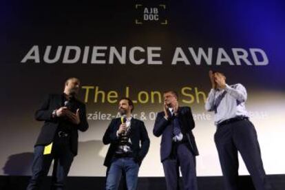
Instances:
[[[196,121],[198,176],[222,175],[213,113],[204,103],[209,70],[247,89],[268,174],[285,173],[284,3],[277,1],[43,1],[1,6],[1,175],[30,175],[43,123],[34,112],[49,93],[81,79],[89,129],[79,134],[70,176],[105,176],[102,137],[118,116],[118,99],[134,100],[134,117],[151,140],[139,176],[163,176],[160,138],[152,134],[162,92],[176,90]],[[240,174],[248,174],[240,159]]]

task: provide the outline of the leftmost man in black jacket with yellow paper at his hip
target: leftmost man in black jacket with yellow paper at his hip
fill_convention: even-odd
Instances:
[[[77,154],[78,130],[88,129],[85,105],[74,97],[78,94],[79,85],[78,78],[68,78],[63,94],[49,94],[36,111],[36,120],[45,123],[34,145],[32,178],[28,190],[39,189],[52,160],[52,187],[64,187],[72,160]]]

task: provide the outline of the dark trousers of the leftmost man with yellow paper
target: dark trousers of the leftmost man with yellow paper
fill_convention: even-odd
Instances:
[[[44,146],[34,147],[34,160],[32,162],[32,178],[27,190],[40,189],[41,183],[50,169],[52,160],[54,168],[52,171],[52,189],[63,189],[65,180],[74,158],[69,146],[69,138],[56,138],[52,145],[52,154],[43,155]]]

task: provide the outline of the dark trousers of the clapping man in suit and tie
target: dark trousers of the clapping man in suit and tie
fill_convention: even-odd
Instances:
[[[197,190],[196,157],[187,147],[187,143],[173,145],[171,156],[162,162],[167,190],[179,189],[179,167],[182,173],[184,189]]]

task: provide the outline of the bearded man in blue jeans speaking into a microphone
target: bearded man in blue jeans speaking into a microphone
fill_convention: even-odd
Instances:
[[[103,143],[111,144],[104,162],[107,167],[106,189],[118,189],[124,173],[127,189],[134,190],[138,169],[149,151],[149,136],[145,124],[131,116],[134,104],[129,98],[121,98],[118,109],[122,117],[113,119],[103,136]]]

